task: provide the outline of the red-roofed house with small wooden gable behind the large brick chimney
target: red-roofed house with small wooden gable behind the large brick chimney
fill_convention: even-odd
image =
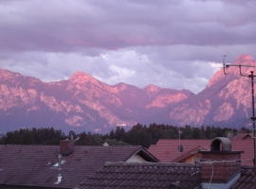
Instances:
[[[241,154],[242,164],[252,165],[252,139],[248,133],[239,133],[232,139],[233,150],[244,150]],[[211,140],[193,140],[193,139],[160,139],[155,145],[151,145],[148,151],[152,153],[160,162],[163,163],[194,163],[200,158],[198,151],[210,150]],[[181,152],[178,146],[183,147]]]

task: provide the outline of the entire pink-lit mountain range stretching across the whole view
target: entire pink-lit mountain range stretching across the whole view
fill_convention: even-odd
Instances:
[[[241,55],[233,65],[256,65]],[[245,75],[251,67],[242,67]],[[193,127],[251,126],[250,78],[238,66],[223,69],[199,94],[189,90],[140,89],[125,83],[107,85],[76,72],[67,80],[43,82],[0,69],[0,131],[53,127],[63,130],[99,131],[140,123]]]

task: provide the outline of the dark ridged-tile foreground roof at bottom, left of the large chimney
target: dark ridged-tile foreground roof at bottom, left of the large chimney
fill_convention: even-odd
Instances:
[[[199,171],[189,163],[105,163],[80,188],[190,189],[200,185]]]

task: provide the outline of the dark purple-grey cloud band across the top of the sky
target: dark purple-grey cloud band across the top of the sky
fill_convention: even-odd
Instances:
[[[252,8],[219,1],[181,2],[159,6],[136,1],[14,1],[6,4],[7,8],[2,6],[7,10],[2,11],[6,21],[1,26],[1,35],[5,36],[1,48],[66,51],[155,44],[236,44],[255,38],[254,33],[243,30],[247,25],[255,27]]]

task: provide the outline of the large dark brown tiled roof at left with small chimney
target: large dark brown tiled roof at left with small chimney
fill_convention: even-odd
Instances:
[[[59,174],[60,146],[4,146],[0,150],[0,184],[72,188],[94,174],[105,162],[124,162],[141,152],[141,146],[74,146],[74,152],[63,156],[63,180]],[[143,150],[145,155],[145,150]]]

